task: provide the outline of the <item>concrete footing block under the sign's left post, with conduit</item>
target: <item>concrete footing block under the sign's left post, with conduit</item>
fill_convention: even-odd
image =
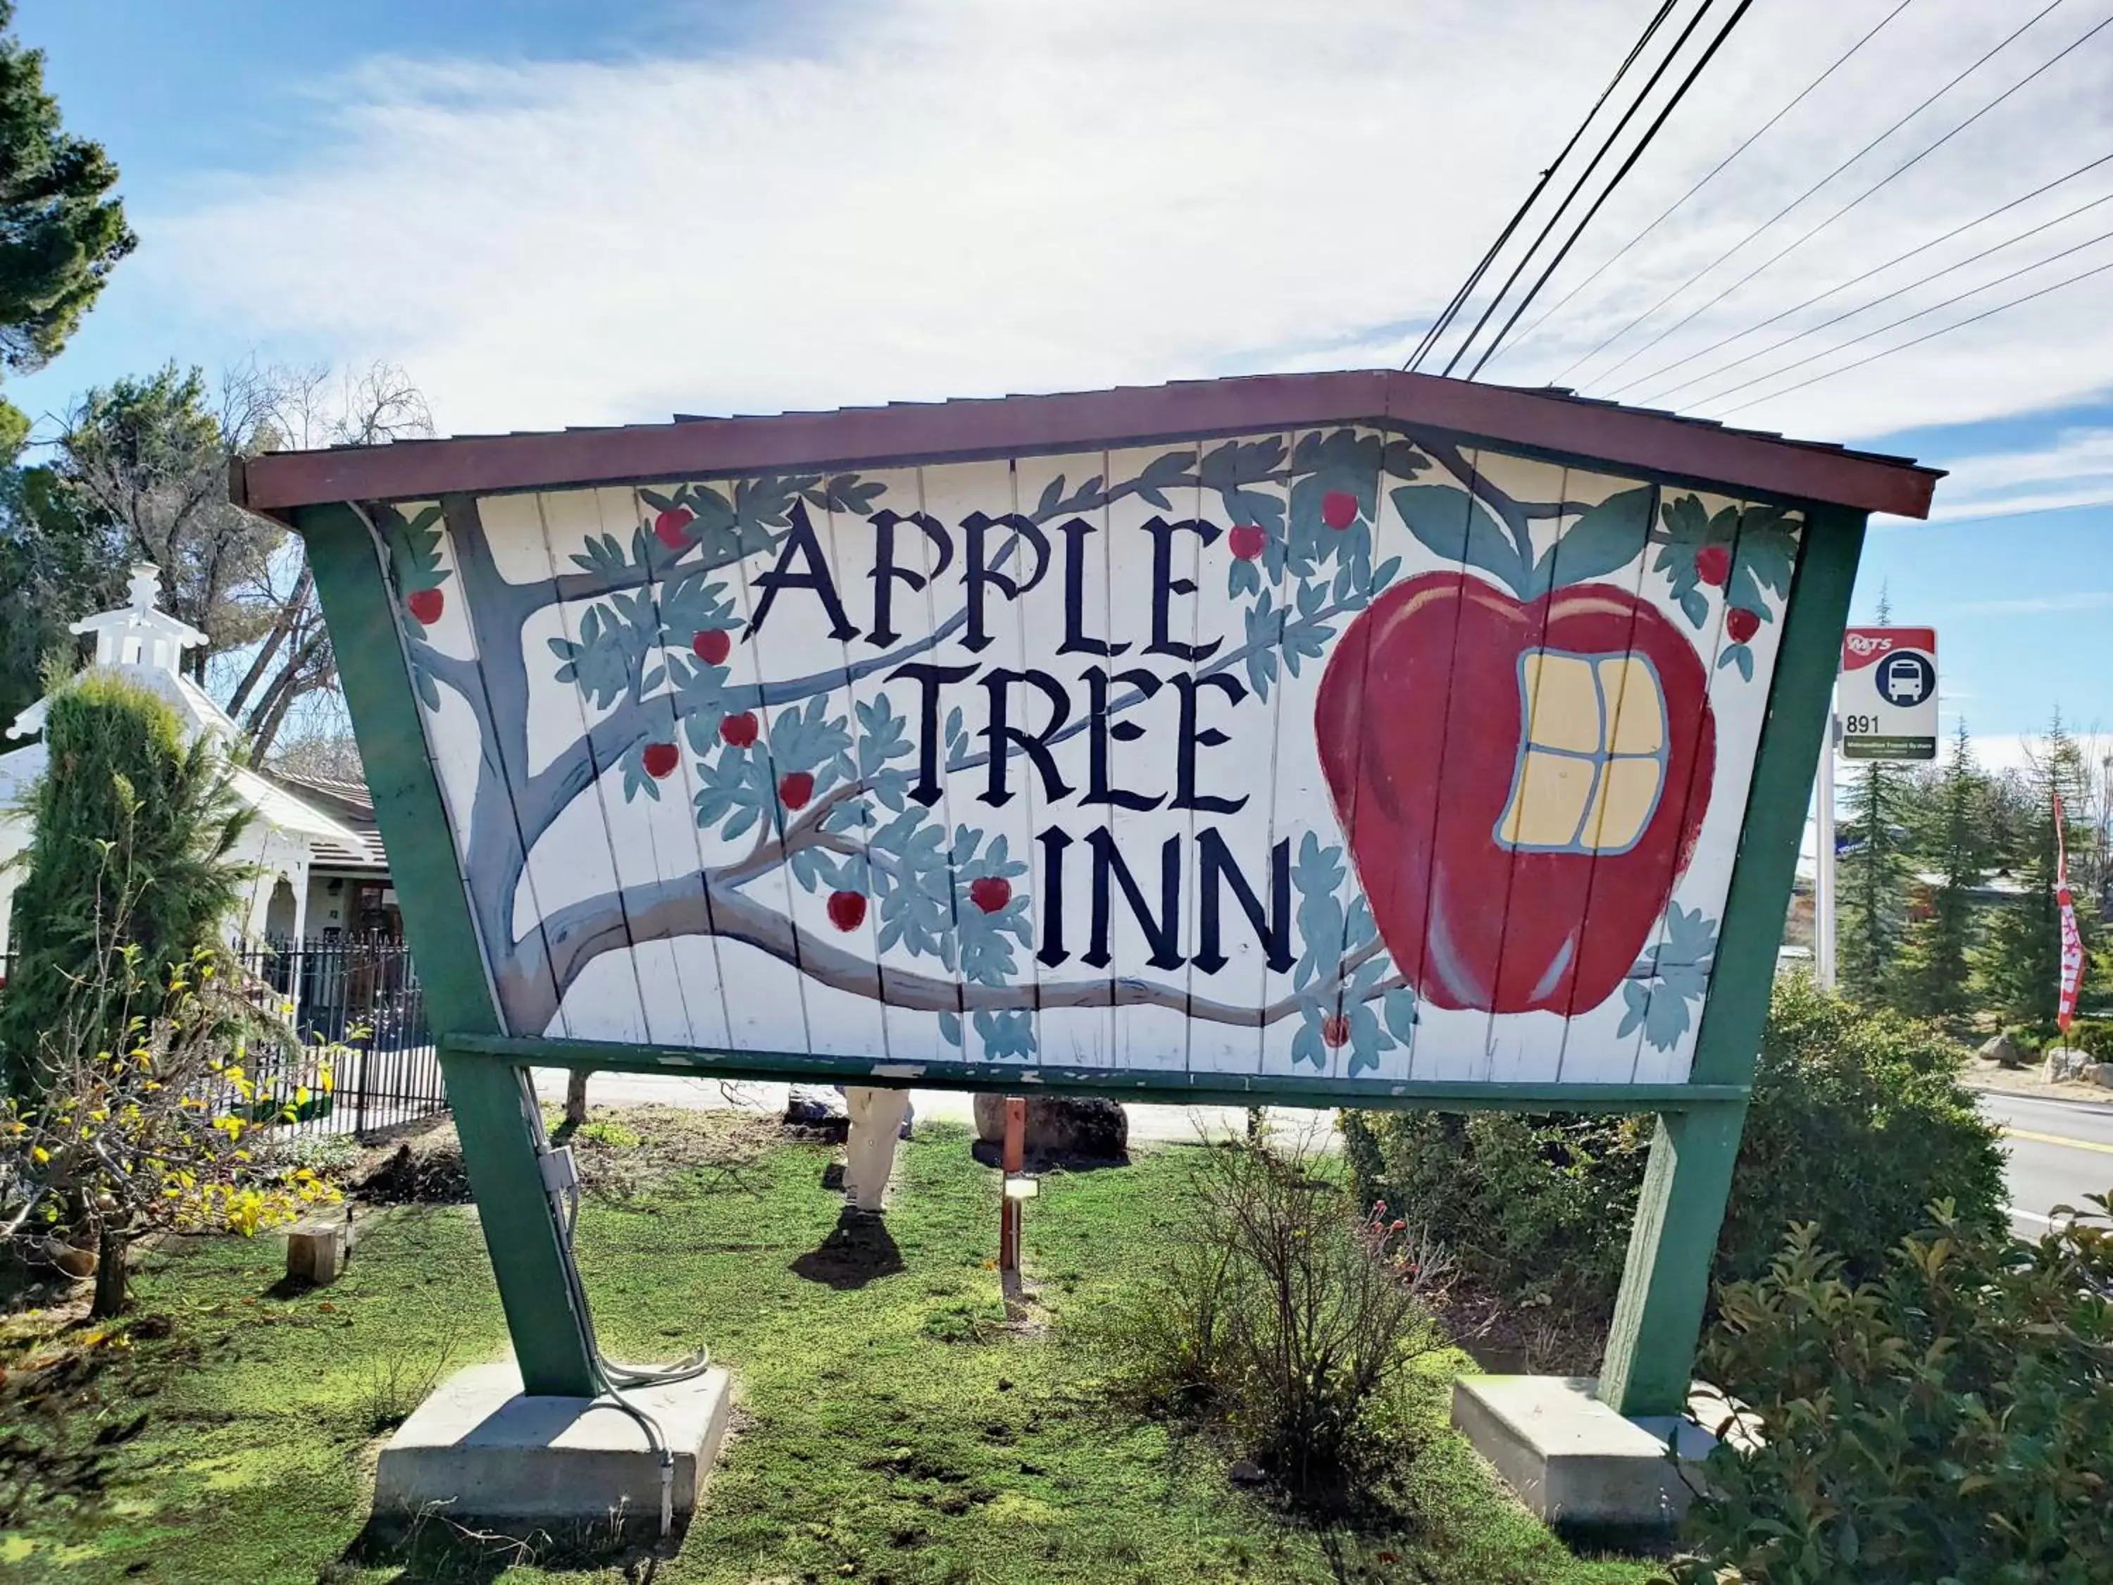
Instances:
[[[625,1391],[674,1450],[672,1509],[697,1507],[697,1488],[727,1435],[729,1378]],[[644,1426],[606,1397],[528,1397],[511,1359],[442,1382],[382,1448],[374,1515],[412,1522],[425,1511],[465,1519],[657,1526],[661,1460]]]

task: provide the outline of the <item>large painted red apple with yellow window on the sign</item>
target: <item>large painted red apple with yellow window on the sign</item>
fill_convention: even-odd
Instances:
[[[1380,936],[1439,1008],[1608,1000],[1695,852],[1716,767],[1695,647],[1606,583],[1388,590],[1329,655],[1314,733]]]

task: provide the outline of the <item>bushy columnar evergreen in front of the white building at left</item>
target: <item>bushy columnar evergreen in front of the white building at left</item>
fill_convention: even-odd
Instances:
[[[0,1090],[13,1095],[32,1080],[42,1031],[116,1048],[118,1008],[213,945],[247,879],[230,858],[249,812],[228,765],[207,738],[186,748],[156,693],[87,672],[53,695],[44,748],[27,797],[36,835],[13,860],[27,873],[0,997]]]

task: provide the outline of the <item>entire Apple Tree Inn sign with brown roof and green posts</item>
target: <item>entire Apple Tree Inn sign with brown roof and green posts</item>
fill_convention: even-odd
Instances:
[[[528,1391],[528,1063],[1657,1110],[1673,1414],[1866,511],[1562,393],[1209,380],[254,459],[306,539]]]

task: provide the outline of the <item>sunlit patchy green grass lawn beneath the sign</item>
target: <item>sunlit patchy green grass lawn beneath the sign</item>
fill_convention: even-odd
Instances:
[[[598,1152],[636,1150],[604,1129]],[[1395,1534],[1316,1532],[1232,1488],[1223,1454],[1105,1405],[1097,1306],[1152,1270],[1183,1152],[1052,1175],[1027,1207],[1042,1321],[997,1302],[995,1173],[961,1131],[902,1150],[890,1243],[833,1236],[828,1152],[771,1143],[733,1169],[634,1177],[581,1213],[581,1264],[604,1348],[674,1359],[699,1342],[733,1367],[737,1435],[674,1555],[547,1560],[473,1545],[376,1562],[355,1545],[374,1454],[435,1369],[505,1346],[467,1207],[399,1207],[363,1230],[349,1274],[279,1298],[277,1238],[186,1238],[137,1281],[167,1336],[89,1350],[68,1437],[110,1429],[106,1500],[30,1511],[0,1532],[8,1581],[1458,1581],[1616,1585],[1654,1579],[1581,1560],[1502,1496],[1450,1431],[1433,1376],[1433,1443]],[[0,1348],[23,1361],[17,1319]],[[158,1323],[144,1331],[161,1331]],[[89,1403],[99,1395],[99,1403]],[[4,1407],[6,1401],[0,1401]],[[137,1416],[146,1414],[144,1424]],[[137,1426],[137,1429],[135,1429]],[[129,1433],[129,1435],[127,1435]],[[0,1426],[0,1443],[6,1426]],[[8,1469],[0,1458],[0,1500]]]

